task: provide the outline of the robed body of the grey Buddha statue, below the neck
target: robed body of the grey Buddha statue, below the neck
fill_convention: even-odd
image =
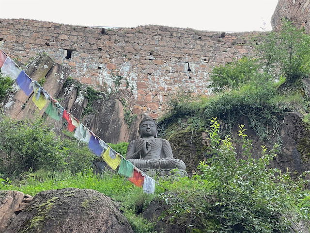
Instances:
[[[145,142],[151,144],[150,152],[141,156]],[[140,138],[131,141],[127,147],[126,159],[134,166],[142,168],[170,168],[186,169],[185,163],[180,159],[174,159],[170,143],[161,138],[144,139]]]

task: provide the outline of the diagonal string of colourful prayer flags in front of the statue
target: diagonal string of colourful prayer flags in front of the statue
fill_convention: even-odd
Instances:
[[[37,81],[32,80],[24,70],[21,70],[2,50],[0,50],[0,68],[1,73],[15,80],[17,85],[27,96],[34,93],[32,101],[40,110],[45,107],[47,100],[50,100],[45,113],[55,120],[60,120],[61,118],[65,119],[68,122],[67,130],[73,132],[75,129],[74,136],[79,141],[87,143],[89,150],[95,155],[102,156],[108,166],[113,170],[119,167],[118,173],[126,176],[131,183],[134,183],[138,187],[141,187],[143,184],[143,192],[148,194],[154,193],[155,183],[159,185],[158,182],[155,182],[152,177],[147,176],[138,167],[126,160],[120,153],[113,150],[77,118],[67,112],[57,100],[53,99]]]

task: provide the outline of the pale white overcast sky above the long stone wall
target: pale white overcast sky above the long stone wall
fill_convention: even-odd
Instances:
[[[0,18],[98,27],[162,25],[202,31],[271,31],[278,0],[2,0]]]

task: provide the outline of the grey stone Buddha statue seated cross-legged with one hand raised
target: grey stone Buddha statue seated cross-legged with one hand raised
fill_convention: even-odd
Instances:
[[[141,170],[144,168],[181,169],[186,174],[185,163],[174,159],[170,143],[157,138],[156,123],[151,117],[140,122],[140,138],[128,144],[126,159]]]

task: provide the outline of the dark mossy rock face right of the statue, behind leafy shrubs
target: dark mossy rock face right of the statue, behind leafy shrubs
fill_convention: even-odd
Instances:
[[[280,151],[278,156],[271,161],[271,167],[280,168],[282,171],[286,171],[288,168],[293,176],[309,170],[309,150],[307,149],[309,147],[309,132],[305,129],[302,118],[303,115],[298,112],[287,113],[279,125],[279,137],[270,136],[268,140],[262,141],[248,126],[248,118],[241,117],[231,132],[233,147],[236,149],[238,158],[245,159],[242,157],[242,144],[238,138],[238,124],[243,124],[245,125],[244,128],[247,129],[248,139],[252,140],[251,152],[254,158],[261,156],[261,145],[272,149],[274,143],[278,143],[280,144]],[[177,125],[172,127],[174,127],[174,133],[168,139],[171,143],[173,155],[185,162],[186,171],[191,175],[196,171],[199,162],[205,159],[203,154],[208,145],[208,135],[205,132],[183,130]]]

